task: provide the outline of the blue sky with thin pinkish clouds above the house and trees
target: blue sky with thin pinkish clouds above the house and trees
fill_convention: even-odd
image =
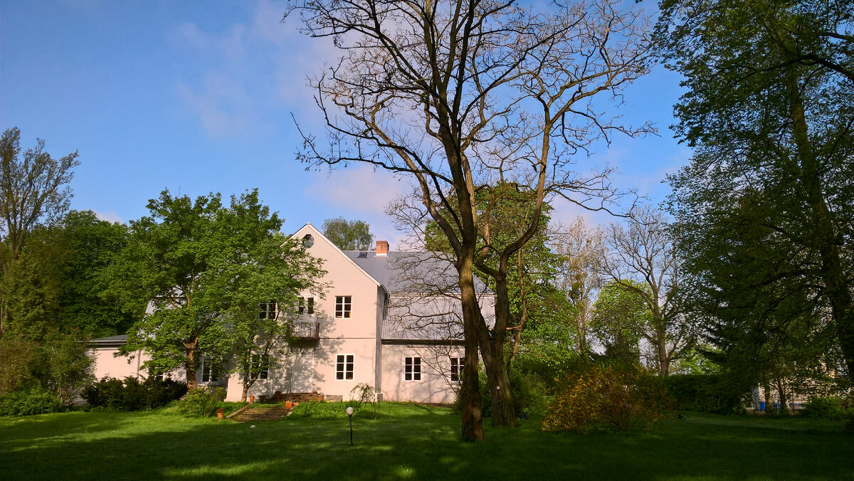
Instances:
[[[72,207],[109,220],[146,214],[163,188],[228,196],[257,187],[286,220],[284,232],[342,215],[367,220],[377,238],[400,239],[383,206],[405,181],[367,167],[306,171],[295,161],[291,114],[317,125],[305,79],[335,52],[280,23],[283,13],[284,3],[268,0],[4,0],[0,128],[20,127],[24,148],[38,137],[54,156],[79,150]],[[678,82],[656,67],[626,91],[626,120],[651,120],[660,136],[616,138],[594,154],[620,169],[617,185],[655,201],[669,191],[665,173],[689,155],[668,129]],[[559,204],[554,216],[577,214]]]

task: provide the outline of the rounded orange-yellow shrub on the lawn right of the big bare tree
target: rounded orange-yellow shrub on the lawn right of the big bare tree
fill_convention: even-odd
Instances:
[[[658,421],[666,402],[664,385],[640,368],[618,371],[613,367],[590,367],[571,372],[559,382],[542,429],[642,429]]]

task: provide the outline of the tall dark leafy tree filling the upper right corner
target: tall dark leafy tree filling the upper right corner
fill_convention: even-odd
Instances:
[[[736,275],[807,286],[830,313],[854,378],[854,4],[672,0],[662,11],[664,53],[689,89],[676,106],[676,132],[695,148],[671,179],[680,242],[700,255],[687,272],[713,277],[731,258],[704,253],[749,256],[761,239],[752,245],[769,255],[764,266]],[[776,319],[799,317],[789,314]]]

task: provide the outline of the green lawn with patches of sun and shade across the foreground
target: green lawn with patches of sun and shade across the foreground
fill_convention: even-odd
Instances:
[[[158,413],[0,418],[0,479],[854,479],[839,423],[689,414],[639,434],[543,433],[535,421],[461,443],[444,408],[250,425]]]

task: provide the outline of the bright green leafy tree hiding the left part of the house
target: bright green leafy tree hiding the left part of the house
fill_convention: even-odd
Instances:
[[[230,207],[219,194],[194,202],[163,191],[148,208],[149,216],[131,222],[127,247],[108,268],[108,292],[141,318],[121,350],[144,349],[152,372],[184,368],[194,388],[202,353],[208,362],[222,361],[242,332],[247,303],[255,302],[257,315],[257,302],[240,297],[256,280],[246,273],[275,271],[282,259],[299,262],[303,251],[277,236],[282,220],[260,204],[257,191],[232,196]]]

